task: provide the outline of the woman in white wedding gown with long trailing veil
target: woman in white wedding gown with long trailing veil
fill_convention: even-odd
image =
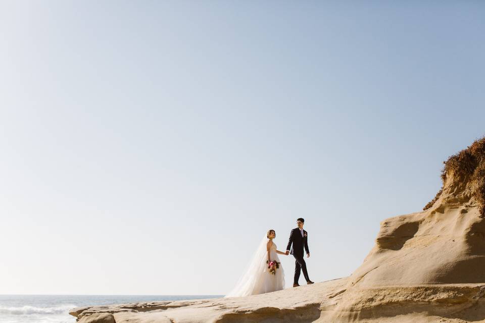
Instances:
[[[273,242],[275,237],[276,232],[274,230],[269,230],[266,233],[246,272],[239,279],[234,289],[224,297],[263,294],[284,288],[284,272],[281,264],[279,264],[274,275],[269,272],[268,268],[271,261],[280,262],[278,254],[285,254],[276,250],[276,244]]]

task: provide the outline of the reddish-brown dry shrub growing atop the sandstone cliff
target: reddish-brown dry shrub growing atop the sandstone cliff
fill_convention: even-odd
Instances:
[[[443,163],[445,164],[441,171],[443,185],[448,172],[453,171],[457,175],[454,177],[456,181],[465,181],[467,186],[469,185],[472,196],[478,203],[481,217],[485,217],[485,137],[475,140],[466,149],[450,156]],[[434,204],[443,193],[443,188],[424,206],[423,210]]]

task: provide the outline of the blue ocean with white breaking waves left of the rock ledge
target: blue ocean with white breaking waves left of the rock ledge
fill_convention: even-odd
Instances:
[[[74,323],[73,307],[147,301],[218,298],[223,295],[0,295],[0,323]]]

